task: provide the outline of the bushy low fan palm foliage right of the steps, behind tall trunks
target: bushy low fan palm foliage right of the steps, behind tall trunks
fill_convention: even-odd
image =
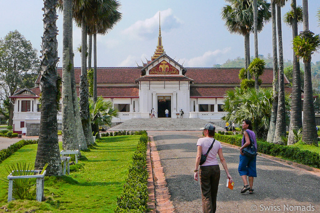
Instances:
[[[250,119],[258,138],[266,138],[269,128],[269,120],[272,108],[272,88],[247,88],[236,87],[226,91],[222,108],[227,115],[222,117],[224,121],[234,121],[241,125],[244,119]],[[286,123],[289,124],[289,110],[291,99],[285,95]]]

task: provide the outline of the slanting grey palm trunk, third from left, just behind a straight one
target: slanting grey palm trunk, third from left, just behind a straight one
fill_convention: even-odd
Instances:
[[[72,1],[70,1],[70,8],[72,10]],[[72,92],[72,103],[73,103],[73,112],[75,115],[75,128],[76,128],[76,135],[77,135],[77,145],[79,145],[80,150],[88,149],[87,143],[85,141],[81,118],[80,118],[80,111],[79,111],[79,103],[78,103],[78,96],[76,91],[76,79],[75,79],[75,67],[74,67],[74,60],[73,60],[73,44],[72,44],[72,11],[70,12],[70,33],[69,33],[69,51],[70,51],[70,63],[71,63],[71,70],[70,70],[70,80],[71,80],[71,92]]]

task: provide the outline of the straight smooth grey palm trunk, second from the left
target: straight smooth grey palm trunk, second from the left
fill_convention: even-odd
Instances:
[[[70,79],[70,4],[71,0],[63,0],[63,47],[62,47],[62,148],[78,149],[73,111],[71,79]]]

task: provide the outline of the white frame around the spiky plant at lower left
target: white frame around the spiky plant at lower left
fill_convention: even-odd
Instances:
[[[23,178],[36,178],[36,200],[42,201],[43,199],[43,189],[44,189],[44,175],[46,170],[44,170],[43,174],[40,174],[42,170],[28,170],[34,173],[35,175],[22,175],[22,176],[12,176],[12,172],[8,175],[7,179],[9,180],[9,189],[8,189],[8,202],[12,201],[12,187],[13,187],[13,179],[23,179]]]

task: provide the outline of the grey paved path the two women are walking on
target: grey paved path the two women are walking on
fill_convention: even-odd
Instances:
[[[148,134],[154,136],[177,213],[202,212],[200,185],[193,179],[196,141],[202,133]],[[320,212],[319,175],[257,156],[254,194],[240,194],[243,182],[237,170],[239,149],[223,145],[222,150],[235,187],[234,190],[225,187],[226,173],[220,164],[216,212],[254,212],[251,208],[259,212],[308,212],[309,205],[314,208],[312,212]]]

